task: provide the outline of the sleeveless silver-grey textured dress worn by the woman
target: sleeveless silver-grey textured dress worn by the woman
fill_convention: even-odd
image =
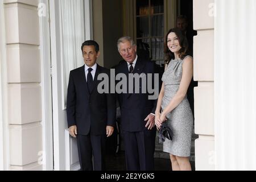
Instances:
[[[164,96],[162,110],[167,107],[180,86],[183,60],[171,60],[163,73]],[[193,114],[187,96],[180,104],[166,115],[167,123],[172,130],[172,140],[166,139],[163,151],[180,157],[190,156],[193,129]]]

